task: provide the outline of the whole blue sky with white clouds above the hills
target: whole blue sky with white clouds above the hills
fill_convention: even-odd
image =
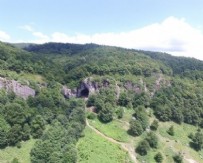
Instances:
[[[0,41],[97,43],[203,60],[202,0],[0,0]]]

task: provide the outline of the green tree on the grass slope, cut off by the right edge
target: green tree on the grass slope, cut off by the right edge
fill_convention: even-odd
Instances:
[[[194,148],[198,151],[203,148],[203,134],[199,131],[192,137]]]

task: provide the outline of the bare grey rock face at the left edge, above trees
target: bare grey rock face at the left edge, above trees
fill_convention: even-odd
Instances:
[[[27,99],[29,96],[35,96],[35,90],[18,83],[15,80],[7,80],[0,77],[0,89],[5,88],[7,91],[13,91],[17,96]]]

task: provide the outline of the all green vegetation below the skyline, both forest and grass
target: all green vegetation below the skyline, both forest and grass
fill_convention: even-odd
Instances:
[[[95,44],[18,47],[0,42],[0,76],[36,96],[0,90],[0,162],[129,162],[122,145],[139,162],[202,162],[202,61]],[[85,88],[88,100],[65,98],[63,86]],[[122,145],[85,129],[86,117]]]

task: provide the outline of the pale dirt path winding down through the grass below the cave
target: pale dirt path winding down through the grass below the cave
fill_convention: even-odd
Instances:
[[[128,154],[130,155],[131,159],[133,162],[137,162],[136,161],[136,156],[135,156],[135,152],[134,152],[134,147],[129,144],[129,143],[122,143],[119,142],[111,137],[108,137],[106,135],[104,135],[103,133],[101,133],[99,130],[97,130],[96,128],[94,128],[93,126],[91,126],[88,122],[88,120],[86,119],[86,124],[89,128],[91,128],[93,131],[95,131],[98,135],[102,136],[103,138],[107,139],[108,141],[114,143],[114,144],[118,144],[120,145],[126,152],[128,152]]]

